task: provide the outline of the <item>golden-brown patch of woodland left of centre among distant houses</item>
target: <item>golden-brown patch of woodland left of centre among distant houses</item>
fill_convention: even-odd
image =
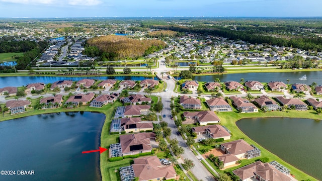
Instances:
[[[108,35],[87,41],[83,54],[101,56],[108,60],[136,60],[142,56],[164,49],[167,44],[159,40],[134,40],[124,36]]]

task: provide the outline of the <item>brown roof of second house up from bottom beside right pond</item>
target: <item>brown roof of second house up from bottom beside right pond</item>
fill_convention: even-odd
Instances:
[[[222,143],[221,145],[224,146],[226,150],[228,150],[229,153],[233,155],[246,153],[246,151],[254,149],[243,139]]]

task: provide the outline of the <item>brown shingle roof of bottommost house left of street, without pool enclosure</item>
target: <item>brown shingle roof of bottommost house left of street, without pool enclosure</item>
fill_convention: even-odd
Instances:
[[[154,180],[165,177],[166,179],[176,177],[176,170],[172,165],[163,165],[157,156],[144,156],[133,159],[132,164],[135,176],[139,180]]]

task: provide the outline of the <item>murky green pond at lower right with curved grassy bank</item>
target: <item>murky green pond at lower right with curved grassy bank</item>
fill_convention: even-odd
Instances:
[[[284,161],[322,180],[322,122],[301,118],[252,118],[238,128]],[[292,170],[291,170],[292,173]]]

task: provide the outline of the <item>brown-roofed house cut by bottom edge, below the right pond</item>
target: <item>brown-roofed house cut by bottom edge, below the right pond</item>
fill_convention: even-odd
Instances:
[[[256,161],[249,165],[232,171],[240,180],[260,180],[260,181],[291,181],[295,180],[290,176],[282,173],[270,163]]]

